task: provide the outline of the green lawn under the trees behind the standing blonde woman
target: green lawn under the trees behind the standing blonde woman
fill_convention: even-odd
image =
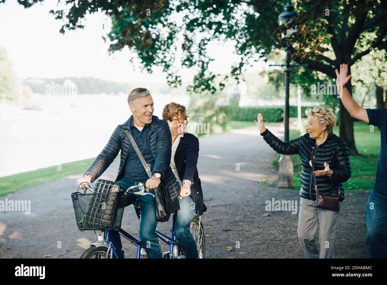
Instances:
[[[339,127],[335,127],[335,134],[339,134]],[[301,136],[300,132],[290,129],[290,139]],[[370,132],[370,126],[363,122],[354,122],[355,144],[360,156],[349,156],[351,164],[351,178],[344,183],[344,189],[348,192],[372,190],[375,182],[375,172],[378,165],[380,151],[380,132],[377,127]],[[277,153],[272,161],[272,167],[278,169],[280,154]],[[300,174],[302,170],[301,161],[298,155],[292,155],[294,172],[293,184],[298,191],[300,189]]]

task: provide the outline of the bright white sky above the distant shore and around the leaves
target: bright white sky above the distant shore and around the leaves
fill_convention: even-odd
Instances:
[[[159,67],[152,74],[134,70],[128,61],[128,48],[108,56],[108,43],[102,36],[110,31],[111,22],[103,13],[87,15],[84,29],[59,33],[62,22],[48,13],[56,5],[57,0],[46,0],[29,9],[16,0],[0,4],[0,46],[7,50],[20,79],[90,76],[121,82],[166,82]],[[231,42],[212,45],[209,56],[215,57],[210,69],[219,73],[229,72],[238,59]],[[259,62],[249,70],[262,67]],[[190,81],[193,73],[185,70],[182,76],[183,81]]]

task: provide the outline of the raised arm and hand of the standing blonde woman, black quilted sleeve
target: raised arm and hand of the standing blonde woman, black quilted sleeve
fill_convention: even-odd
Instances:
[[[264,137],[266,143],[271,146],[272,149],[281,153],[282,155],[296,155],[298,154],[298,139],[293,139],[291,141],[281,141],[278,137],[274,136],[268,129],[264,126],[264,120],[262,114],[259,113],[257,116],[257,121],[254,121],[257,124],[258,130],[261,133],[261,136]]]

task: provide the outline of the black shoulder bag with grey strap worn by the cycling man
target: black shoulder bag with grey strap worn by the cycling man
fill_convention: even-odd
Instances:
[[[139,147],[137,146],[132,134],[129,131],[123,130],[125,135],[128,137],[130,143],[132,144],[139,160],[141,161],[142,166],[144,167],[148,177],[152,177],[151,170],[149,170],[146,160],[142,155]],[[179,199],[176,197],[175,199],[171,199],[170,192],[163,182],[159,184],[157,189],[154,189],[154,204],[156,209],[156,220],[164,223],[170,219],[172,210],[180,210]]]

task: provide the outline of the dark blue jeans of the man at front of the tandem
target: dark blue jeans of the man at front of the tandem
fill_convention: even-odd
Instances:
[[[146,184],[146,181],[133,181],[123,177],[116,181],[122,188],[122,191],[126,191],[130,186],[137,185],[139,182]],[[146,190],[145,190],[146,191]],[[149,190],[149,193],[154,194],[154,190]],[[127,194],[132,195],[132,194]],[[139,199],[141,207],[141,219],[140,219],[140,240],[144,247],[148,258],[163,258],[161,253],[161,247],[158,237],[156,236],[156,210],[154,205],[154,197],[151,195],[135,196]],[[118,243],[120,249],[122,249],[121,237],[118,230],[111,231],[114,239]]]

